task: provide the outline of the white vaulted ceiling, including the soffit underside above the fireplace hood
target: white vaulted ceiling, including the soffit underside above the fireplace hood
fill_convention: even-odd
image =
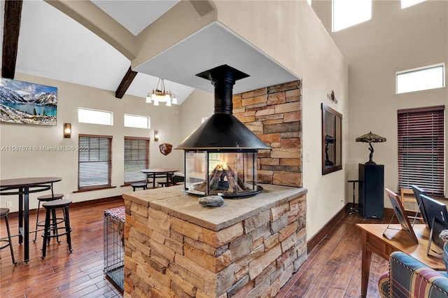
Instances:
[[[92,3],[137,36],[179,1]],[[1,1],[2,21],[3,6]],[[3,40],[3,31],[0,37]],[[126,94],[146,97],[158,78],[165,78],[165,87],[181,104],[195,88],[212,92],[211,83],[195,74],[221,64],[250,76],[235,84],[235,93],[297,79],[237,34],[213,22],[135,66],[132,70],[138,74]],[[115,92],[130,65],[120,51],[57,8],[40,0],[23,2],[17,72]]]

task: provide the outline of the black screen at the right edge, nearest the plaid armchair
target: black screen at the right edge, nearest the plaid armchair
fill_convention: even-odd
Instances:
[[[424,194],[421,196],[421,202],[426,212],[428,220],[428,227],[431,231],[431,238],[433,242],[439,247],[443,248],[444,241],[440,239],[439,234],[444,229],[448,229],[448,212],[447,206],[440,201],[432,199]]]

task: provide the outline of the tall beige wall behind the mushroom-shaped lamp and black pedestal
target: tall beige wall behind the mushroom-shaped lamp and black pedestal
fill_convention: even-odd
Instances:
[[[331,31],[331,1],[313,1],[313,8]],[[373,1],[372,20],[331,34],[350,69],[349,179],[358,178],[358,163],[367,162],[369,155],[367,145],[355,139],[372,131],[387,138],[373,145],[374,162],[384,164],[384,187],[398,191],[397,110],[447,106],[448,90],[395,94],[395,73],[443,62],[448,66],[447,16],[448,1],[424,1],[405,9],[400,1]],[[445,152],[446,166],[447,161]],[[385,206],[391,207],[386,195]]]

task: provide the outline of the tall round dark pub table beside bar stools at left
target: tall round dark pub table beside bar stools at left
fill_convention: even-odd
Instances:
[[[19,195],[19,244],[24,242],[23,262],[29,262],[29,194],[52,191],[52,184],[59,177],[31,177],[0,180],[0,195]]]

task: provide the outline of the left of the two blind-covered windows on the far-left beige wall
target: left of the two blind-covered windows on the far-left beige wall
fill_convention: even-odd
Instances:
[[[112,136],[80,134],[78,190],[111,186]]]

